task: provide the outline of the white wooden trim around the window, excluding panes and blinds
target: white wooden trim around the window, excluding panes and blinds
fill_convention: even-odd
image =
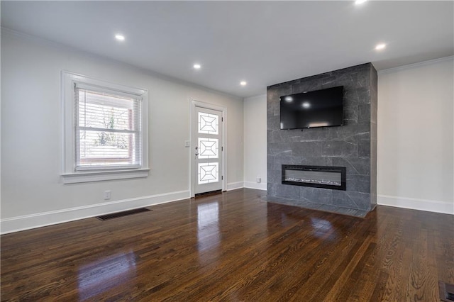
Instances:
[[[75,125],[74,125],[74,83],[99,86],[119,93],[134,94],[142,99],[141,138],[142,165],[131,169],[99,169],[96,171],[76,171],[75,169]],[[62,71],[62,171],[64,184],[114,179],[148,177],[148,90],[138,89],[86,77],[82,74]]]

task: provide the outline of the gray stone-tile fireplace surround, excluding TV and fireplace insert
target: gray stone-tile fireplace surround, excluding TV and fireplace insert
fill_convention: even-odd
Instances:
[[[344,86],[344,125],[280,130],[279,97]],[[282,164],[346,168],[346,189],[282,184]],[[267,201],[364,217],[377,204],[377,71],[372,64],[267,87]]]

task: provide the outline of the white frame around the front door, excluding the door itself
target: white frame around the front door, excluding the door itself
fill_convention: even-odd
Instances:
[[[196,107],[207,108],[211,110],[221,111],[221,118],[222,118],[222,141],[221,141],[221,151],[222,152],[222,160],[221,160],[221,184],[222,184],[222,191],[226,191],[227,188],[227,167],[226,167],[226,157],[227,157],[227,108],[223,106],[218,106],[215,104],[205,103],[201,101],[196,101],[195,99],[189,99],[190,104],[190,118],[189,118],[189,138],[191,138],[190,143],[190,150],[189,150],[189,191],[191,193],[191,198],[195,196],[195,184],[196,184],[196,158],[194,156],[195,147],[197,145],[196,138],[194,138],[194,112]]]

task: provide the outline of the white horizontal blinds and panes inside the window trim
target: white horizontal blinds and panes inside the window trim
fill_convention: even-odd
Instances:
[[[76,170],[140,167],[140,99],[74,85]]]

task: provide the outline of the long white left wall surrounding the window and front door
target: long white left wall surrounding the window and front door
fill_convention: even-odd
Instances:
[[[148,178],[62,184],[62,69],[148,89]],[[227,185],[243,184],[242,99],[9,30],[1,32],[1,75],[2,233],[187,198],[189,99],[227,108]]]

